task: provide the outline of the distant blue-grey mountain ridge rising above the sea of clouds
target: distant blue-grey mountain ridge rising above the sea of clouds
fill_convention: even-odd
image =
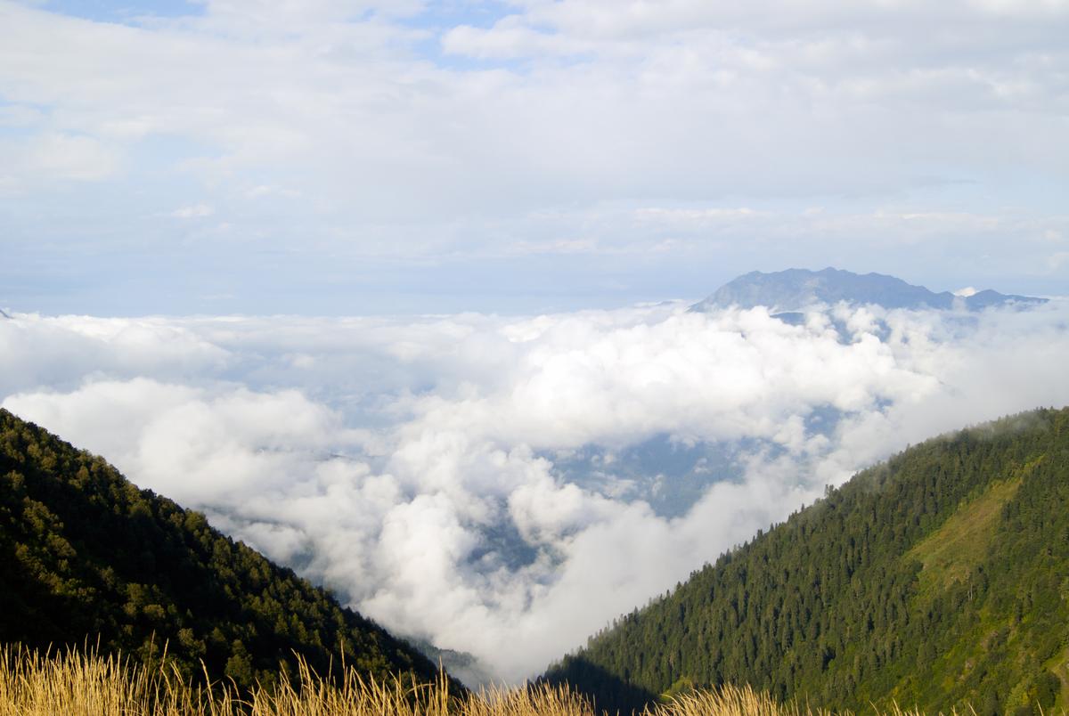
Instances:
[[[789,268],[771,274],[750,271],[724,284],[691,308],[694,311],[709,311],[729,306],[768,306],[773,312],[790,313],[819,303],[834,305],[839,301],[876,303],[890,309],[961,307],[978,311],[993,306],[1037,306],[1047,302],[1047,299],[1001,294],[990,289],[961,296],[949,291],[935,293],[894,276],[861,275],[828,267],[819,271],[805,268]]]

